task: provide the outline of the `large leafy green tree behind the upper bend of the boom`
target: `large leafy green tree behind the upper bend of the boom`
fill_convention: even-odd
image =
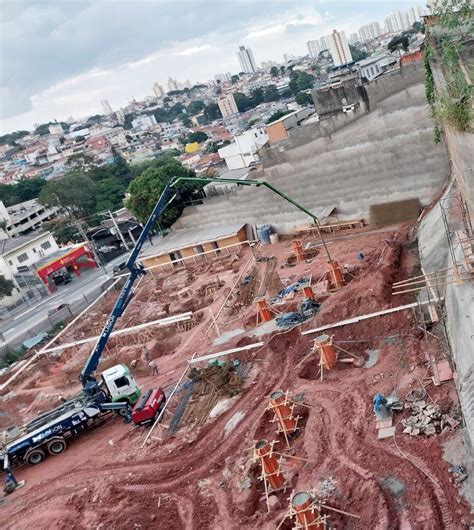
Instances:
[[[146,169],[130,183],[127,208],[133,212],[137,219],[145,222],[166,184],[169,184],[174,177],[194,176],[194,171],[185,168],[172,157],[163,155],[154,161],[153,168]],[[181,215],[184,203],[189,201],[194,193],[201,188],[202,185],[194,183],[180,183],[178,185],[179,195],[160,216],[158,220],[160,225],[165,228],[171,226]]]

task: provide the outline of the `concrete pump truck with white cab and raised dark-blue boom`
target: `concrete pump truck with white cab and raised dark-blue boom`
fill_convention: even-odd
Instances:
[[[99,379],[95,371],[117,320],[133,297],[135,281],[145,274],[143,266],[137,263],[143,244],[155,221],[175,197],[171,187],[166,186],[130,253],[126,264],[130,274],[81,371],[81,393],[23,426],[5,431],[0,440],[4,470],[15,463],[39,464],[47,454],[62,453],[69,438],[88,430],[111,411],[117,411],[127,422],[136,424],[149,423],[159,414],[166,401],[161,389],[151,389],[142,395],[135,378],[123,364],[104,370]]]

